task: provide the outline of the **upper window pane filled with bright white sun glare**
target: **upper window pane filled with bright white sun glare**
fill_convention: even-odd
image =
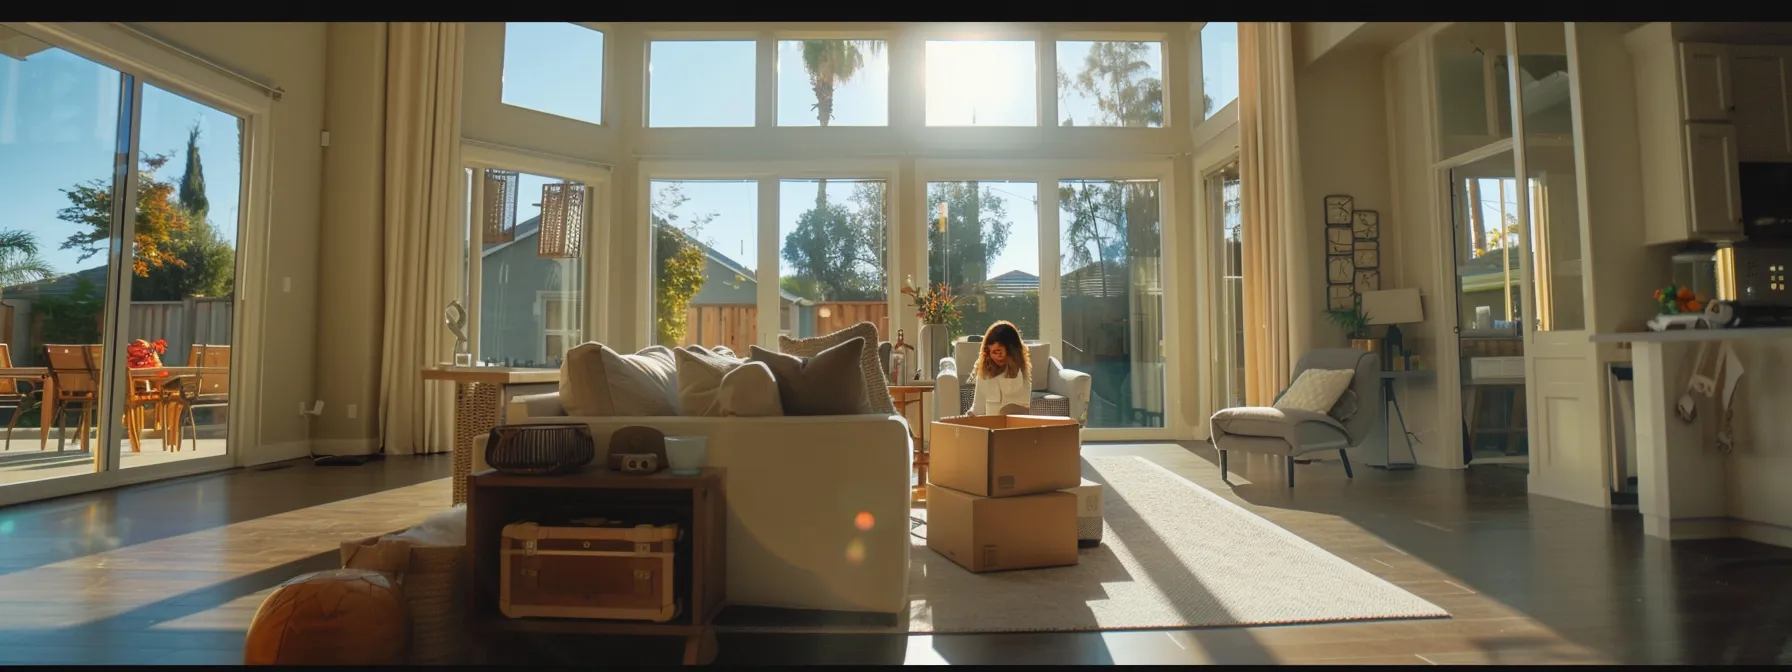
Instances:
[[[928,41],[926,125],[1038,125],[1038,73],[1032,41]]]

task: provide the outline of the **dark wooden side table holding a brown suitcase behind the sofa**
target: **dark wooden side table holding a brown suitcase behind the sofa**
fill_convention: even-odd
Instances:
[[[695,477],[672,471],[629,475],[586,468],[561,477],[518,477],[480,471],[468,477],[466,556],[473,581],[471,616],[478,649],[491,649],[491,636],[521,634],[622,634],[677,636],[685,640],[685,665],[715,661],[715,615],[728,599],[728,495],[722,470]],[[498,547],[504,525],[539,520],[556,513],[602,516],[606,511],[676,513],[690,529],[690,557],[677,563],[674,595],[685,609],[665,624],[600,618],[507,618],[498,611]],[[486,661],[478,661],[486,663]]]

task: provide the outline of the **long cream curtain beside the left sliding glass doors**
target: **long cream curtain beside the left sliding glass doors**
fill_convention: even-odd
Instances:
[[[425,383],[453,358],[443,310],[459,297],[461,72],[466,25],[389,23],[385,61],[385,328],[380,441],[389,453],[453,448],[453,391]]]

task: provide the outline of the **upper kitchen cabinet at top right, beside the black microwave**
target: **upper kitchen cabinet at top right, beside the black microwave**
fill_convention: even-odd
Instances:
[[[1742,238],[1733,48],[1676,41],[1672,25],[1665,22],[1631,30],[1624,47],[1636,72],[1643,240]],[[1753,79],[1760,77],[1751,70]],[[1758,95],[1749,97],[1754,100]],[[1751,129],[1762,125],[1753,118],[1749,124]]]

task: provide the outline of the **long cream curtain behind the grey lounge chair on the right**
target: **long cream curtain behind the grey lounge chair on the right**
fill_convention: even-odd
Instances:
[[[1244,394],[1269,405],[1312,346],[1314,303],[1290,23],[1238,23]]]

